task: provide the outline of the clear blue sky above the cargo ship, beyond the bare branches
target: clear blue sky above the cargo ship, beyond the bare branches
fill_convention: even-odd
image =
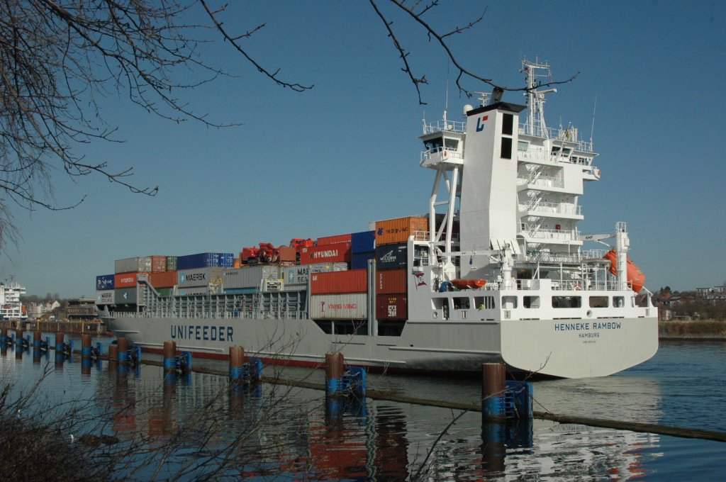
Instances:
[[[385,6],[385,2],[380,0]],[[726,7],[717,1],[444,1],[428,20],[440,30],[481,13],[452,49],[470,70],[521,86],[522,57],[552,66],[555,80],[579,72],[548,97],[547,121],[574,124],[600,153],[601,181],[581,204],[583,233],[627,221],[631,255],[646,287],[720,285],[726,237],[722,206],[726,155]],[[128,102],[103,101],[123,144],[79,147],[89,159],[134,181],[159,186],[133,195],[105,179],[70,181],[57,173],[56,197],[69,211],[15,211],[22,234],[0,258],[28,293],[93,295],[97,274],[113,261],[152,254],[239,253],[258,242],[287,244],[367,229],[370,221],[423,213],[433,171],[418,166],[421,119],[446,106],[452,68],[423,30],[394,18],[409,60],[429,83],[418,105],[386,30],[367,2],[238,2],[240,30],[266,23],[248,41],[283,78],[314,83],[305,93],[280,89],[226,44],[208,46],[212,62],[236,74],[184,94],[198,113],[227,129],[171,123]],[[472,91],[488,86],[466,83]],[[505,100],[523,103],[520,93]],[[449,81],[449,118],[473,103]]]

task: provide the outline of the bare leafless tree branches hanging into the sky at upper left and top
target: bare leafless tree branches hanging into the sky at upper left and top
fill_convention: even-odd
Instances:
[[[402,0],[369,0],[377,25],[372,36],[391,39],[404,81],[425,103],[420,86],[427,83],[425,55],[411,57],[399,35],[415,29],[449,59],[460,91],[464,81],[497,86],[473,73],[454,55],[454,36],[481,22],[484,13],[455,27],[441,26],[439,0],[409,4]],[[126,95],[126,102],[173,122],[194,120],[208,127],[229,127],[189,105],[189,93],[219,78],[232,77],[235,62],[251,68],[283,89],[304,92],[314,83],[285,78],[280,68],[266,65],[250,44],[266,23],[250,23],[239,4],[211,0],[0,2],[0,248],[17,242],[12,208],[69,209],[83,202],[60,204],[54,197],[54,176],[98,175],[131,192],[155,195],[158,187],[140,187],[133,167],[109,166],[86,158],[78,148],[91,142],[118,142],[117,127],[107,123],[100,99]],[[396,20],[396,23],[393,22]],[[438,20],[438,21],[437,21]],[[406,27],[404,27],[406,26]],[[205,47],[227,49],[224,65],[205,58]],[[423,59],[423,60],[420,60]],[[313,79],[314,80],[314,79]],[[567,80],[568,81],[568,80]],[[550,82],[543,85],[550,85]]]

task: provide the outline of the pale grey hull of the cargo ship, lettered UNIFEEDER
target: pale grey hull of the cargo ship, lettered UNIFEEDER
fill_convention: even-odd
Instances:
[[[319,367],[325,354],[340,351],[348,364],[431,374],[481,372],[482,363],[506,362],[538,375],[600,377],[642,363],[658,349],[654,318],[598,319],[597,326],[580,320],[570,327],[563,320],[409,320],[400,336],[372,337],[328,335],[299,319],[122,316],[105,322],[144,351],[159,352],[174,341],[193,356],[224,359],[230,346],[242,346],[266,362],[306,367]]]

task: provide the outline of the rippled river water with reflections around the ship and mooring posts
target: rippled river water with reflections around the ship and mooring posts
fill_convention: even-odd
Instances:
[[[618,375],[534,382],[534,409],[726,432],[725,369],[726,343],[664,342],[653,359]],[[325,376],[265,367],[266,377],[274,374],[321,384]],[[33,361],[11,348],[0,356],[0,377],[13,385],[11,398],[38,384],[22,417],[37,417],[33,407],[57,411],[60,420],[64,410],[85,411],[73,412],[84,422],[71,426],[69,440],[118,438],[129,452],[113,469],[119,478],[712,481],[726,469],[726,444],[714,441],[546,420],[483,425],[478,412],[372,399],[340,404],[322,391],[272,384],[230,390],[226,377],[197,372],[165,381],[150,365],[82,369],[78,356]],[[369,375],[368,386],[472,404],[481,393],[479,380],[433,377]],[[136,452],[131,440],[142,441]]]

